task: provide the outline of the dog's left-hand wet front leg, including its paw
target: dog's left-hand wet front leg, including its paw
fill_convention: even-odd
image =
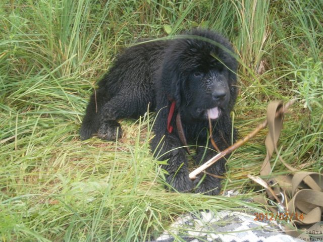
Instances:
[[[192,181],[189,178],[185,149],[179,148],[181,146],[180,140],[173,134],[156,135],[151,143],[154,156],[158,160],[168,160],[168,164],[161,167],[168,172],[168,189],[188,193],[192,189]]]

